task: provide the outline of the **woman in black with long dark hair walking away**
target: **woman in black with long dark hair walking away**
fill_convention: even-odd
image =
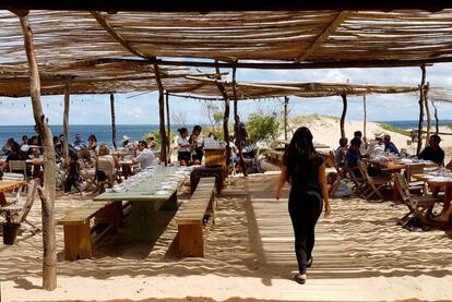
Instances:
[[[275,197],[279,200],[285,182],[290,183],[288,210],[295,234],[295,254],[298,274],[295,281],[306,282],[306,268],[312,265],[314,227],[325,204],[325,216],[331,214],[325,179],[325,164],[312,144],[312,134],[306,126],[297,129],[284,158]]]

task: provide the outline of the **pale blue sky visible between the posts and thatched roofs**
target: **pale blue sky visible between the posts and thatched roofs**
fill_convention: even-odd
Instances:
[[[226,70],[224,70],[226,71]],[[388,84],[417,86],[420,82],[419,68],[393,69],[331,69],[331,70],[238,70],[238,81],[294,81],[294,82],[333,82],[357,84]],[[427,81],[433,87],[452,87],[452,63],[436,64],[427,68]],[[116,95],[116,116],[118,124],[155,124],[158,123],[157,94]],[[72,96],[70,108],[71,124],[109,124],[110,107],[108,95]],[[362,98],[349,97],[348,120],[362,119]],[[368,120],[416,120],[418,117],[418,96],[412,95],[368,95]],[[0,97],[0,125],[34,124],[29,98]],[[51,124],[62,123],[62,96],[43,97],[44,110]],[[239,114],[246,120],[257,111],[281,112],[283,99],[241,101]],[[218,102],[219,105],[219,102]],[[188,124],[207,123],[205,102],[185,98],[170,97],[170,109],[182,117]],[[451,119],[452,105],[438,104],[439,118]],[[290,116],[329,114],[340,116],[341,97],[328,98],[290,98]]]

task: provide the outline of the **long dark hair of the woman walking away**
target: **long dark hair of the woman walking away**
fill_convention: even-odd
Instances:
[[[295,131],[286,152],[284,153],[283,164],[287,168],[288,179],[305,179],[309,172],[311,159],[316,158],[317,153],[312,143],[312,133],[306,126],[300,126]]]

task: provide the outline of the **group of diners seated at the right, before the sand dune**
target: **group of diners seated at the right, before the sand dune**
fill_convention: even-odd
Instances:
[[[419,153],[418,159],[431,160],[438,166],[443,166],[444,150],[440,147],[440,142],[441,137],[439,135],[431,135],[429,145]],[[349,146],[346,137],[340,140],[340,146],[335,150],[335,161],[340,167],[346,167],[346,170],[352,170],[355,174],[360,176],[358,160],[362,158],[406,155],[405,149],[402,149],[402,153],[399,152],[389,134],[378,134],[372,142],[368,143],[360,131],[355,131]],[[449,165],[452,167],[452,162]]]

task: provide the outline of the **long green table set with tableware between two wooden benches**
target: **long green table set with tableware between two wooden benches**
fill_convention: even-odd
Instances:
[[[177,209],[177,190],[190,172],[188,167],[148,167],[122,183],[106,189],[93,201],[131,202],[132,210],[127,226],[130,238],[152,241],[158,235],[157,212]]]

